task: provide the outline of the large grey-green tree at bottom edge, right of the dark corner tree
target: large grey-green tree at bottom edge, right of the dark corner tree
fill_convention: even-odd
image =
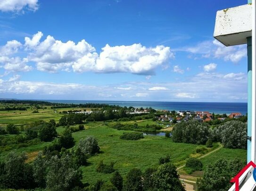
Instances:
[[[64,154],[61,158],[55,155],[50,158],[46,175],[47,190],[70,191],[82,184],[81,179],[82,172],[70,155]]]

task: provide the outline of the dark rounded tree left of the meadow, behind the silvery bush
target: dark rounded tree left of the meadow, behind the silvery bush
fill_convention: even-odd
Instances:
[[[38,131],[38,138],[41,141],[51,141],[53,138],[57,137],[57,131],[54,126],[51,125],[40,125]]]

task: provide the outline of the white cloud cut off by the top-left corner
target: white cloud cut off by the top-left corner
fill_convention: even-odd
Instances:
[[[23,9],[36,11],[38,0],[0,0],[0,11],[21,12]]]

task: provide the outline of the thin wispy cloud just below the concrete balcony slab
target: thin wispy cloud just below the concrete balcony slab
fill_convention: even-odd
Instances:
[[[198,59],[198,54],[200,54],[202,58],[218,58],[232,62],[239,62],[247,56],[246,45],[224,46],[216,39],[213,41],[199,42],[195,46],[177,48],[176,51],[185,51],[194,54],[196,57],[190,54],[190,58],[194,59]]]

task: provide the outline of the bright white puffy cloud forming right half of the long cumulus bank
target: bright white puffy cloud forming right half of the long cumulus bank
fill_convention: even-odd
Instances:
[[[151,75],[154,70],[173,57],[169,47],[156,46],[147,48],[140,44],[131,46],[109,46],[102,48],[93,65],[86,59],[80,59],[72,66],[74,71],[93,70],[102,73],[128,72],[132,74]]]

